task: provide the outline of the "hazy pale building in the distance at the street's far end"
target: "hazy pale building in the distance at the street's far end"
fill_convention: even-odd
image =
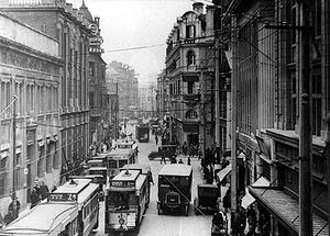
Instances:
[[[135,116],[139,86],[134,69],[129,65],[111,61],[107,68],[107,87],[119,95],[119,117]]]

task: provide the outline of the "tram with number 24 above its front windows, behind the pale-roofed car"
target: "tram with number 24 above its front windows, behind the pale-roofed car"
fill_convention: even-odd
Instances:
[[[91,179],[70,179],[48,194],[48,202],[78,206],[78,236],[89,235],[99,226],[99,184]]]

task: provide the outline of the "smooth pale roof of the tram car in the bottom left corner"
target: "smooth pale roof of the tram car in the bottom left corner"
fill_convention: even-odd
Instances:
[[[18,235],[52,235],[51,232],[63,231],[66,222],[78,215],[78,207],[72,204],[41,203],[28,214],[19,217],[3,229],[0,234]]]

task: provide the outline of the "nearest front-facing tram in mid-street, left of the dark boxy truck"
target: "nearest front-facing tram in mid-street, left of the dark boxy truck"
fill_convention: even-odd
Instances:
[[[105,233],[138,235],[150,199],[148,178],[141,170],[121,170],[106,189]]]

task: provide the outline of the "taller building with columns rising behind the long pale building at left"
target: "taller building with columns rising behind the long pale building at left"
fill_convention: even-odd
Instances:
[[[65,0],[1,0],[2,11],[38,29],[59,43],[65,61],[61,81],[62,173],[79,170],[87,156],[89,141],[88,46],[90,22]],[[42,153],[40,150],[38,153]]]

